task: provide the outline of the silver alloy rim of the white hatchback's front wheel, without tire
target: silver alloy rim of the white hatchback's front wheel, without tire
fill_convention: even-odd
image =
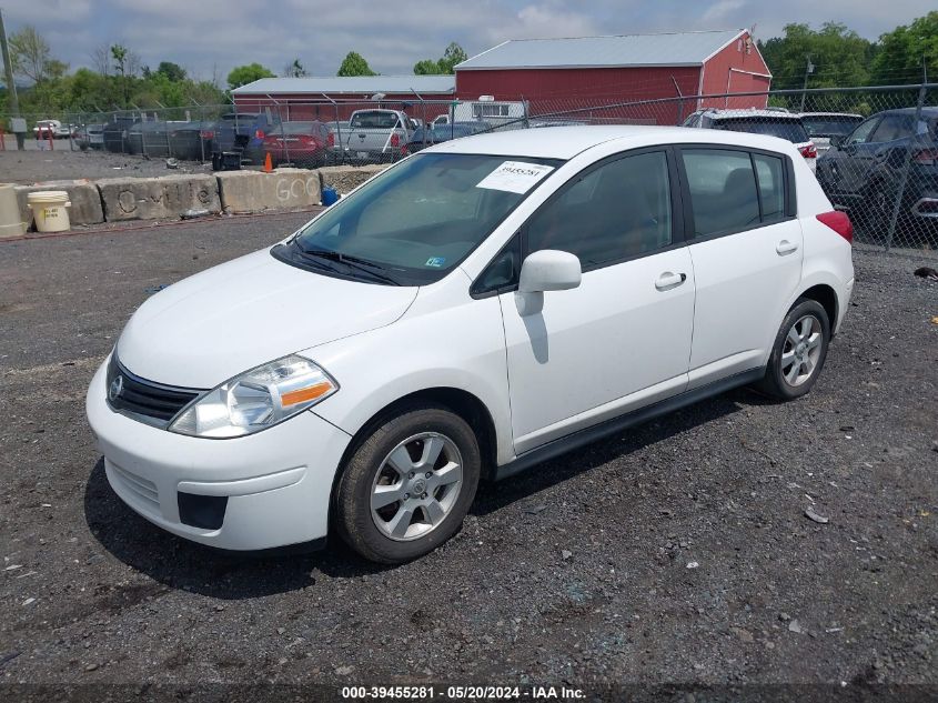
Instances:
[[[455,442],[421,432],[400,442],[381,462],[370,495],[381,533],[396,542],[426,536],[453,511],[463,486]]]

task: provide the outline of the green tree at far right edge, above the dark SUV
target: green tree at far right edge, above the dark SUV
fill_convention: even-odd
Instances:
[[[919,82],[926,71],[928,80],[938,80],[938,11],[881,34],[873,60],[877,83]]]

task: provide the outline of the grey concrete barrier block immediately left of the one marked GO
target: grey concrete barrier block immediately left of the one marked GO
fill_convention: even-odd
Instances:
[[[214,175],[110,178],[98,181],[108,222],[170,220],[190,210],[221,212]]]

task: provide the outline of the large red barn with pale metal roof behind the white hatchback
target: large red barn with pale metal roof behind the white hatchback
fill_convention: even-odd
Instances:
[[[617,102],[767,91],[771,74],[747,30],[511,40],[456,67],[456,97],[527,100],[531,113]],[[608,119],[674,124],[699,108],[764,108],[766,97],[667,101],[592,111]]]

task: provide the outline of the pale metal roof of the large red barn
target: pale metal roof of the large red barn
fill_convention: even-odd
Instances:
[[[512,39],[463,61],[456,70],[700,66],[745,31]]]

